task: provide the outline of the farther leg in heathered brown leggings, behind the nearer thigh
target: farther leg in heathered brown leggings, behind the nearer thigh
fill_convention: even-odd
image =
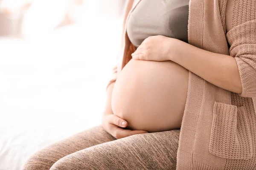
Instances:
[[[23,170],[49,170],[59,159],[104,142],[116,140],[99,125],[91,127],[59,142],[49,145],[32,155],[23,167]]]

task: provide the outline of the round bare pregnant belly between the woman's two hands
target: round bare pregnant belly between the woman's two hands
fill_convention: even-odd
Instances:
[[[172,61],[131,59],[113,88],[113,113],[127,129],[160,132],[179,129],[185,109],[189,71]]]

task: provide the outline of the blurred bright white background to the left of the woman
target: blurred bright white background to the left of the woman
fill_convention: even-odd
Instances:
[[[126,0],[0,0],[0,170],[100,125]]]

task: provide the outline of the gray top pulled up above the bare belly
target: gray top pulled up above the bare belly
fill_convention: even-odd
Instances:
[[[131,12],[127,34],[138,47],[153,35],[188,42],[189,0],[141,0]]]

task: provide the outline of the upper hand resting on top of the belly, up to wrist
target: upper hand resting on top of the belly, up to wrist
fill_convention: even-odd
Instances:
[[[168,61],[173,54],[175,38],[156,35],[146,38],[141,45],[131,54],[133,59],[150,61]]]

